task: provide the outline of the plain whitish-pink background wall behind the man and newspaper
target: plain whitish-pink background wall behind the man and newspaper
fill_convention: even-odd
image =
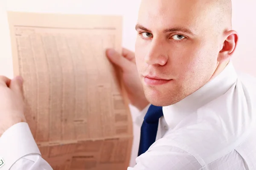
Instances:
[[[7,6],[5,3],[7,1]],[[54,12],[75,14],[123,15],[122,45],[134,50],[136,32],[134,26],[140,0],[0,0],[0,74],[12,77],[12,60],[9,33],[4,10],[29,12]],[[233,57],[238,70],[256,76],[256,1],[233,0],[233,29],[238,31],[239,44]],[[4,40],[4,41],[3,41]],[[132,108],[136,117],[137,110]],[[140,136],[140,127],[134,124],[134,146],[131,166],[135,164]]]

